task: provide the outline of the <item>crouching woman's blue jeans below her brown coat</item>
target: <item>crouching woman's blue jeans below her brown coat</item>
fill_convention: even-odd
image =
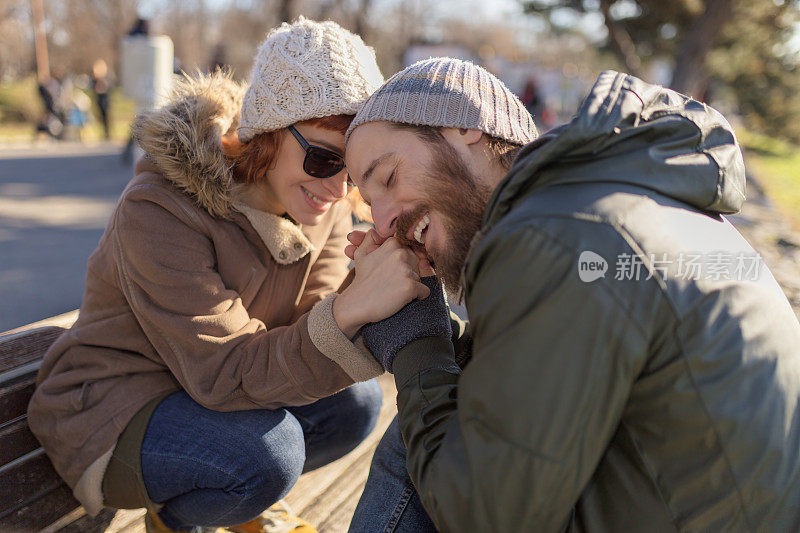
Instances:
[[[185,391],[156,408],[142,443],[142,475],[173,529],[230,526],[280,500],[302,472],[353,450],[378,420],[376,380],[310,405],[219,412]]]

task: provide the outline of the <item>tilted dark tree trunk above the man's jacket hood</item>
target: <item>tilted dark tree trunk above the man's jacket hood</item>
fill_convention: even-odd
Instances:
[[[678,54],[670,87],[689,96],[698,97],[706,87],[706,55],[714,46],[717,35],[733,16],[732,0],[706,0],[705,12],[689,28]]]

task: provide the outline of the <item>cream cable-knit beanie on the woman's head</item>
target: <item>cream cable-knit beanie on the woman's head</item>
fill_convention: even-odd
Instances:
[[[331,21],[283,23],[256,54],[239,140],[302,120],[355,114],[381,83],[375,52],[358,35]]]

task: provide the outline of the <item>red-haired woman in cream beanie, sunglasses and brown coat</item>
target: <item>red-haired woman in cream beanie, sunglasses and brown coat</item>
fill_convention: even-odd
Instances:
[[[268,35],[246,89],[198,74],[136,118],[146,155],[28,411],[89,513],[312,530],[261,513],[373,429],[383,369],[350,339],[428,294],[399,244],[344,281],[344,132],[382,81],[360,37],[301,18]]]

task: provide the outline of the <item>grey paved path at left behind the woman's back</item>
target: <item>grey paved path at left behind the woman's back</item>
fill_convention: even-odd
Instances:
[[[0,147],[0,331],[80,307],[86,260],[131,176],[119,152]]]

